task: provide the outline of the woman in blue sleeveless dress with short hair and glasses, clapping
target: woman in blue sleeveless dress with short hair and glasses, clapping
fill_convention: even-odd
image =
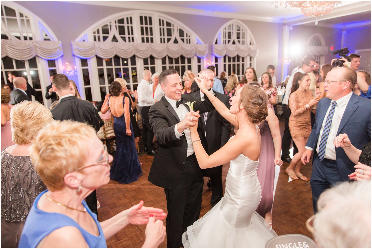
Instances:
[[[93,127],[52,121],[34,139],[30,156],[47,190],[33,202],[19,248],[107,248],[106,240],[128,224],[147,224],[144,248],[163,242],[167,215],[143,201],[101,222],[90,211],[84,198],[109,183],[113,159]]]

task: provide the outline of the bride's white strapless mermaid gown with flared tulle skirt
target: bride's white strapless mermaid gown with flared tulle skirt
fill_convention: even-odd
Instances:
[[[258,164],[242,154],[230,161],[224,197],[187,227],[184,248],[264,248],[277,236],[255,212],[261,198]]]

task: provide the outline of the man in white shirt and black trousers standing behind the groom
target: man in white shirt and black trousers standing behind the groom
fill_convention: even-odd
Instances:
[[[150,107],[155,103],[153,98],[153,90],[150,88],[151,72],[150,70],[143,70],[143,79],[137,86],[138,92],[138,106],[140,107],[140,114],[142,117],[142,141],[147,155],[155,155],[154,151],[154,132],[151,129],[150,122],[148,120],[148,111]]]

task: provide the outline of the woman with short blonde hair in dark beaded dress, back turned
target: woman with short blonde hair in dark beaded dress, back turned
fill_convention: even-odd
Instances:
[[[10,125],[15,145],[1,151],[1,248],[17,248],[33,201],[46,187],[33,168],[29,147],[52,113],[38,102],[12,107]]]

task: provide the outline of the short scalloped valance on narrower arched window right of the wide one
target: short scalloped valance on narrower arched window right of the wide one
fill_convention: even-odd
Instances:
[[[258,55],[257,45],[240,45],[240,44],[214,44],[212,47],[212,53],[216,57],[224,57],[225,55],[234,56],[251,56],[256,57]]]

